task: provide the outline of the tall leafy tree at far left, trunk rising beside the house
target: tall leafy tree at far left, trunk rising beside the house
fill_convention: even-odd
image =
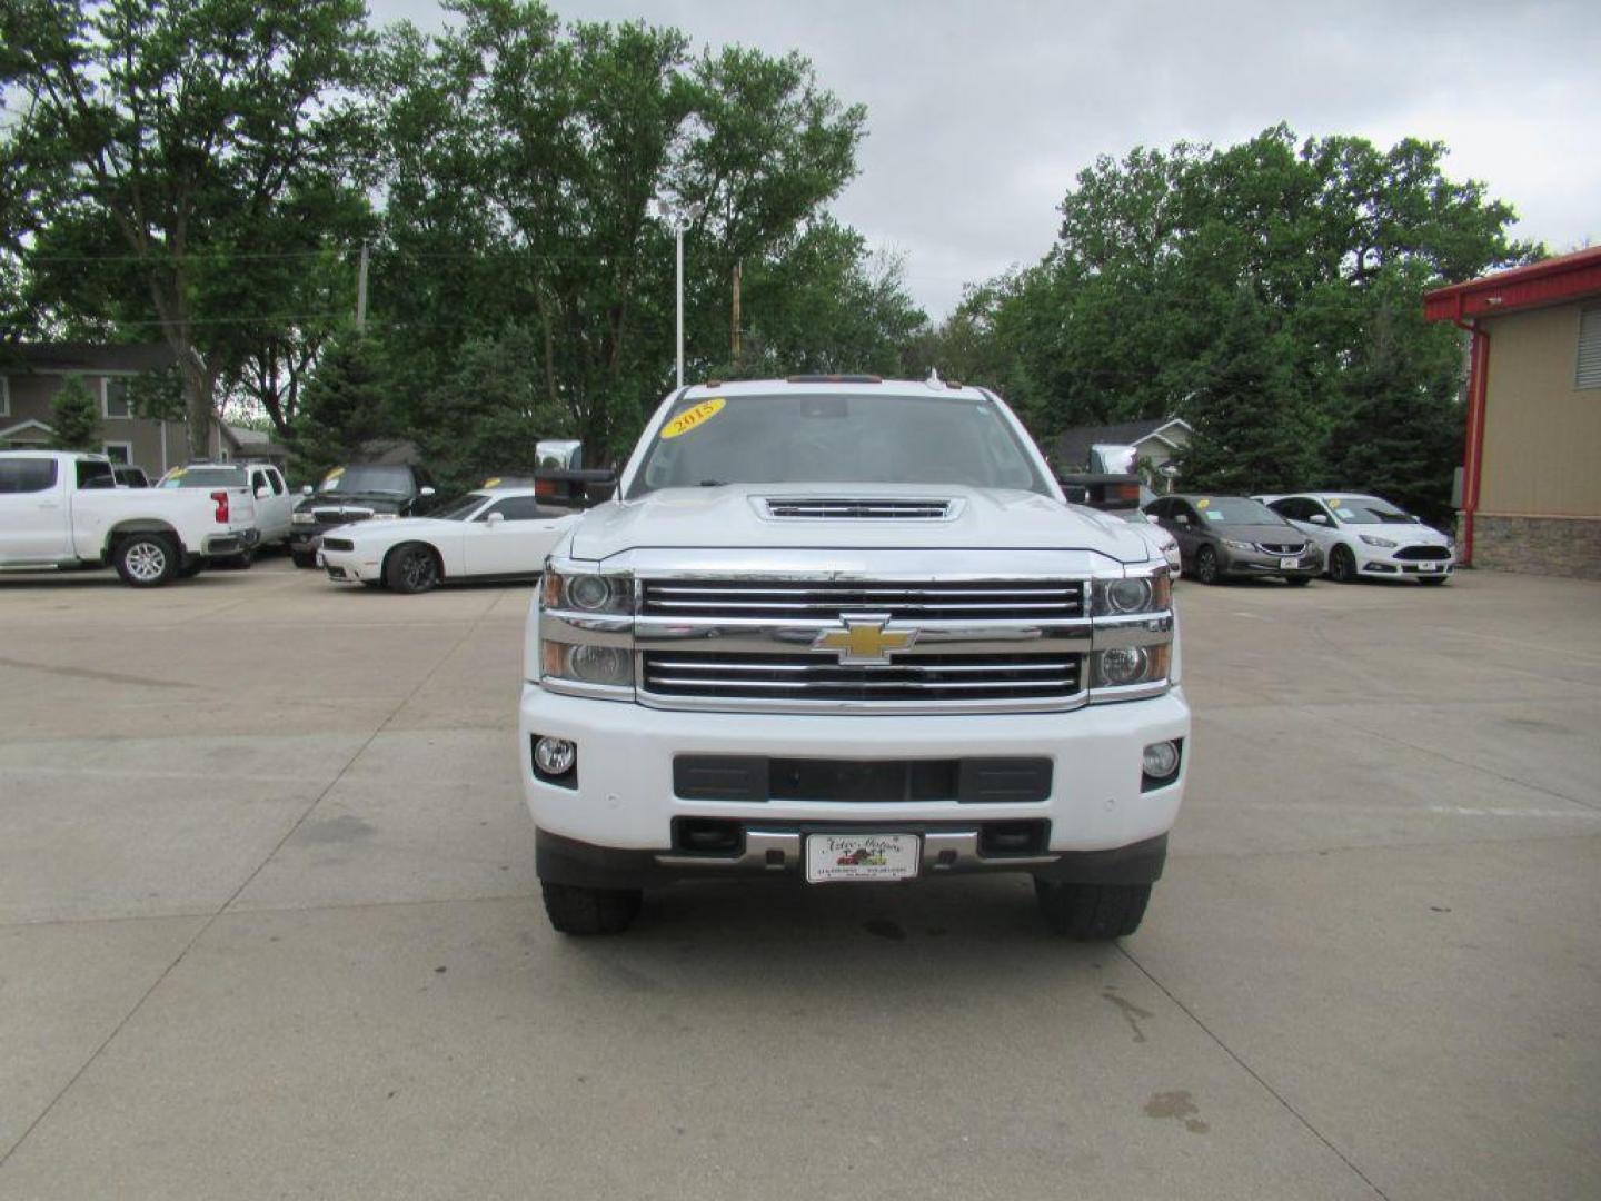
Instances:
[[[293,315],[285,280],[319,218],[360,208],[362,0],[13,0],[8,163],[43,181],[29,285],[107,330],[158,333],[191,452],[247,323]],[[280,322],[279,322],[280,323]]]

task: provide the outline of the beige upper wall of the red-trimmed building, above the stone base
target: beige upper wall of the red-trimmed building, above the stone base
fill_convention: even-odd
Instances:
[[[1582,309],[1561,304],[1484,323],[1481,514],[1601,516],[1601,388],[1574,388]]]

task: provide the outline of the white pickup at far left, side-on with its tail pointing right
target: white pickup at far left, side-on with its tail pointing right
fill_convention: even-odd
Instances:
[[[104,455],[0,452],[0,568],[110,565],[155,588],[256,538],[248,487],[118,488]]]

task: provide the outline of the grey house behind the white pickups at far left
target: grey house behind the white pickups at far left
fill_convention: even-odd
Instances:
[[[53,434],[50,402],[77,375],[99,402],[101,452],[114,463],[144,468],[155,479],[189,460],[189,423],[136,416],[128,383],[171,367],[168,346],[27,343],[0,351],[0,450],[37,450]],[[287,460],[283,447],[250,429],[213,421],[210,458]]]

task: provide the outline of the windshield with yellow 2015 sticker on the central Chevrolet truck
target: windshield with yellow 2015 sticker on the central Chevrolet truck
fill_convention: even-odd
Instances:
[[[680,400],[652,439],[629,495],[845,482],[1050,495],[991,400],[857,392]]]

